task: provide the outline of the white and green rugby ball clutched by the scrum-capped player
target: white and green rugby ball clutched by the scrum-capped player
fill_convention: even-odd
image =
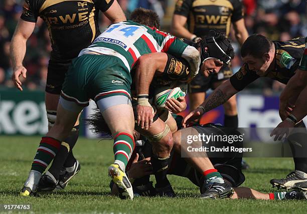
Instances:
[[[179,85],[160,86],[155,89],[154,104],[157,108],[164,108],[165,103],[170,98],[177,99],[180,96],[186,96],[188,84],[181,83]]]

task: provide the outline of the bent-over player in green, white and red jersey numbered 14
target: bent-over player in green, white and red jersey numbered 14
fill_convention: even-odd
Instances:
[[[144,10],[146,12],[151,11]],[[156,20],[151,21],[156,23]],[[124,172],[134,149],[130,70],[141,55],[157,51],[185,58],[191,72],[198,72],[200,53],[195,47],[155,27],[131,20],[111,24],[90,46],[81,50],[67,71],[55,125],[42,137],[37,150],[34,162],[40,164],[35,168],[32,166],[21,195],[36,192],[41,173],[91,98],[95,100],[114,139],[115,161],[108,167],[108,173],[122,190],[120,197],[133,198],[131,184]],[[43,155],[46,151],[49,156]]]

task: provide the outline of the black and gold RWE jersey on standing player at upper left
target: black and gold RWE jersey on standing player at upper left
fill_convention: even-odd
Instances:
[[[98,12],[106,11],[114,0],[25,0],[21,18],[48,25],[55,61],[77,57],[80,50],[100,34]]]

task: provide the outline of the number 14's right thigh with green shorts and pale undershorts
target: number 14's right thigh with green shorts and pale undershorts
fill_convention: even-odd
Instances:
[[[90,62],[85,77],[89,83],[84,88],[97,103],[112,135],[118,132],[133,135],[132,80],[125,64],[118,57],[110,55],[85,54],[80,57],[83,57],[84,63]]]

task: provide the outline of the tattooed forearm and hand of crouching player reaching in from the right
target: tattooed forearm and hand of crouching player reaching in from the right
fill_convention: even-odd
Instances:
[[[217,106],[224,104],[230,97],[236,94],[238,90],[236,90],[230,80],[228,79],[220,86],[218,86],[211,95],[195,110],[191,111],[182,121],[184,127],[189,122],[200,118],[205,112],[216,108]]]

